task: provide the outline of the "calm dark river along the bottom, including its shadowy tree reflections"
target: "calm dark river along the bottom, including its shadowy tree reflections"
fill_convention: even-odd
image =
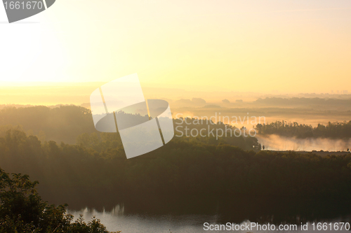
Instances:
[[[336,200],[293,200],[293,199],[230,199],[216,202],[209,199],[197,200],[136,200],[121,202],[109,207],[69,209],[76,218],[84,215],[85,220],[99,218],[110,231],[126,232],[206,232],[204,223],[241,224],[246,221],[259,224],[301,223],[350,223],[349,202]],[[208,231],[207,231],[208,232]],[[228,231],[211,231],[228,232]],[[230,231],[235,232],[235,231]],[[239,231],[239,232],[248,232]],[[252,230],[250,232],[260,232]],[[267,232],[267,231],[265,231]],[[279,232],[275,230],[274,232]],[[292,232],[292,231],[284,231]],[[296,232],[296,231],[295,231]],[[310,232],[301,231],[298,232]],[[327,231],[323,231],[327,232]],[[338,231],[339,232],[339,231]]]

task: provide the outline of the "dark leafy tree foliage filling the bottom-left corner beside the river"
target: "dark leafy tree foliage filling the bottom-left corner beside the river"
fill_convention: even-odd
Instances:
[[[0,232],[87,232],[108,233],[100,220],[85,223],[80,217],[66,213],[67,205],[48,205],[38,195],[37,181],[29,176],[12,174],[0,169]]]

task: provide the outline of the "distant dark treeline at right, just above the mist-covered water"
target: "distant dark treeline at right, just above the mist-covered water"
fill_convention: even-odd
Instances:
[[[258,134],[278,134],[281,136],[296,136],[305,138],[351,138],[351,120],[349,122],[328,122],[328,125],[298,124],[298,122],[276,121],[270,124],[256,125]]]

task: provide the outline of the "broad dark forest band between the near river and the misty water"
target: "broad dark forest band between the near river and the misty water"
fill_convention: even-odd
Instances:
[[[51,202],[74,197],[86,202],[107,197],[350,199],[350,154],[256,153],[176,138],[126,160],[118,134],[102,135],[102,139],[82,136],[80,145],[58,145],[9,130],[0,138],[0,164],[6,171],[41,181],[39,191]]]

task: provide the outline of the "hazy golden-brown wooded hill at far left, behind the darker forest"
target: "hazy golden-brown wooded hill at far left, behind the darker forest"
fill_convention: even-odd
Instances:
[[[13,125],[42,141],[76,142],[77,136],[95,132],[91,111],[80,106],[8,107],[0,110],[0,126]]]

